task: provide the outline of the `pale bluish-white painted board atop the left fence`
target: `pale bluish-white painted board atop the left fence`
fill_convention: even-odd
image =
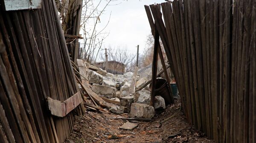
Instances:
[[[0,0],[6,11],[41,8],[42,0]]]

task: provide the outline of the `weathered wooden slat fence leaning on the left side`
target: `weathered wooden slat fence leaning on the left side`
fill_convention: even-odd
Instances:
[[[78,91],[55,2],[33,10],[0,6],[0,142],[63,143],[82,106],[59,118],[45,99],[65,101]]]

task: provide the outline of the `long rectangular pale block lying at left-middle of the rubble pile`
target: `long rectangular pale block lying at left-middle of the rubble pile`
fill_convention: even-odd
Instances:
[[[114,98],[116,96],[116,88],[114,87],[107,87],[104,85],[93,84],[92,90],[97,95],[105,98]]]

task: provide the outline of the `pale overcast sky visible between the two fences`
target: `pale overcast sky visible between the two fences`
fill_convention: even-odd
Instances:
[[[100,0],[96,0],[99,2]],[[97,29],[105,27],[110,17],[110,22],[105,29],[109,32],[102,48],[126,46],[129,52],[136,54],[137,45],[140,45],[139,53],[143,53],[147,36],[151,34],[148,18],[144,5],[163,3],[164,0],[117,0],[107,6],[100,16]],[[106,3],[102,0],[102,5]],[[116,5],[118,4],[118,5]],[[102,51],[103,52],[103,51]]]

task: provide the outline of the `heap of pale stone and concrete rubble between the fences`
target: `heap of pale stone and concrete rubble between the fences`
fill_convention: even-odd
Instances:
[[[113,75],[107,73],[93,64],[86,63],[87,77],[92,85],[91,90],[105,99],[106,102],[119,102],[110,110],[116,113],[130,113],[131,117],[152,118],[155,110],[165,109],[165,102],[161,96],[154,98],[154,106],[149,106],[151,92],[149,86],[131,94],[129,91],[134,73],[128,72],[124,75]],[[151,66],[138,70],[135,79],[135,90],[151,79]]]

